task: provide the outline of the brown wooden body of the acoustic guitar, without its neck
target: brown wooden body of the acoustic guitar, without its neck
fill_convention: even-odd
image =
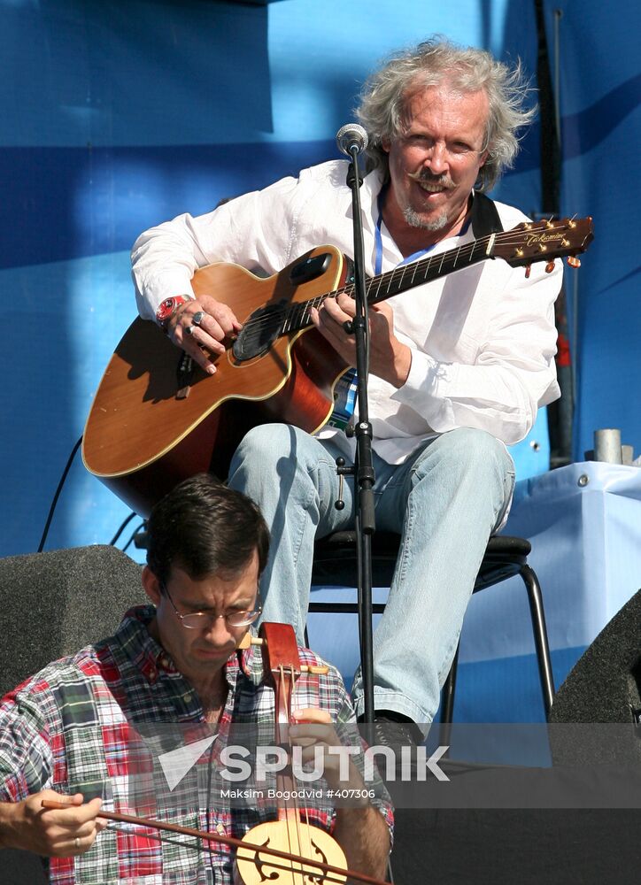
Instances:
[[[292,269],[328,256],[312,280],[295,284]],[[228,304],[243,324],[261,308],[297,304],[344,283],[346,262],[333,246],[307,252],[268,279],[242,267],[214,264],[198,270],[197,295]],[[278,337],[266,353],[238,359],[233,342],[215,360],[216,373],[197,366],[189,396],[176,396],[182,351],[162,330],[135,319],[107,366],[89,412],[82,458],[126,504],[147,516],[177,482],[209,471],[221,480],[243,435],[270,421],[313,433],[328,420],[333,389],[347,366],[315,328]]]

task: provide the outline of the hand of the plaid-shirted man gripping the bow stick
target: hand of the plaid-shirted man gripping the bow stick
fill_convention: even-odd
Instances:
[[[69,804],[66,808],[42,808],[42,799]],[[85,803],[81,793],[61,796],[43,789],[22,802],[0,803],[0,848],[35,851],[47,858],[71,858],[83,854],[107,826],[98,820],[101,799]]]

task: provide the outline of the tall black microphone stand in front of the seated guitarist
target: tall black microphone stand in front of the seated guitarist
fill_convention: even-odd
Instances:
[[[369,348],[367,343],[367,294],[365,290],[365,261],[363,247],[363,222],[360,214],[360,185],[363,177],[359,169],[360,146],[353,141],[349,145],[351,162],[347,173],[347,185],[351,188],[352,218],[354,227],[354,300],[356,314],[351,322],[344,324],[345,331],[354,335],[356,342],[356,372],[359,419],[353,435],[356,437],[356,458],[351,467],[337,464],[339,474],[354,476],[355,529],[357,552],[357,589],[359,600],[360,672],[363,680],[365,721],[374,721],[374,660],[372,639],[372,535],[375,531],[374,481],[372,464],[372,425],[369,423],[367,400],[367,374],[369,372]]]

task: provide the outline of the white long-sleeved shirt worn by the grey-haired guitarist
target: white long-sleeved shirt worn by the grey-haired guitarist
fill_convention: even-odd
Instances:
[[[353,255],[351,191],[347,163],[334,160],[305,169],[271,187],[237,197],[214,212],[181,215],[152,227],[132,253],[138,310],[154,319],[166,297],[193,296],[198,267],[230,261],[248,270],[276,273],[307,250],[331,243]],[[375,229],[380,173],[361,188],[366,273],[375,273]],[[511,206],[496,204],[504,229],[527,220]],[[382,272],[402,260],[385,226]],[[437,242],[431,254],[474,239],[465,234]],[[560,396],[554,354],[554,301],[561,265],[513,269],[501,259],[485,260],[389,299],[394,332],[412,349],[405,384],[396,389],[370,375],[369,415],[375,451],[391,464],[402,462],[421,441],[456,427],[486,430],[507,445],[529,433],[537,407]],[[215,297],[215,293],[212,292]],[[325,428],[351,453],[342,431]]]

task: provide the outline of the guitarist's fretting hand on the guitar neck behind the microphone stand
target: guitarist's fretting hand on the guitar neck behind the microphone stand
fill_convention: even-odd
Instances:
[[[354,318],[353,298],[341,294],[326,298],[320,310],[310,310],[313,325],[348,363],[356,366],[354,335],[344,323]],[[412,350],[394,335],[394,312],[389,304],[374,304],[369,309],[369,371],[395,388],[407,381],[412,366]]]

